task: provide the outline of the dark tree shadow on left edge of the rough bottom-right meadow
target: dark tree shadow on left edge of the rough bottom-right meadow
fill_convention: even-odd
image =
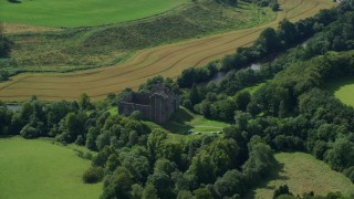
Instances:
[[[257,189],[269,189],[269,190],[275,190],[281,185],[269,185],[271,180],[288,180],[289,177],[284,176],[284,164],[277,164],[275,167],[269,171],[269,175],[267,178],[262,179],[258,182],[258,185],[246,196],[247,199],[256,198],[256,190]]]

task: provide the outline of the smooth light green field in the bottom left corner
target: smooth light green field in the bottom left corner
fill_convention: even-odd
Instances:
[[[75,147],[77,149],[77,147]],[[90,160],[72,147],[22,138],[0,139],[0,198],[98,198],[102,184],[82,182]]]

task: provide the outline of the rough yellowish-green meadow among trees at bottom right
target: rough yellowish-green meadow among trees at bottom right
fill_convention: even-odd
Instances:
[[[348,178],[309,154],[281,153],[277,154],[275,158],[280,168],[248,198],[271,198],[274,188],[285,184],[295,195],[309,191],[314,191],[315,195],[326,195],[330,191],[350,195],[354,191],[354,185]]]

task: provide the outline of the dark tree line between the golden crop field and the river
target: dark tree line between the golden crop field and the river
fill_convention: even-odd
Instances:
[[[347,11],[353,11],[352,1],[344,1],[333,9],[321,10],[314,17],[300,20],[295,23],[284,19],[279,23],[278,30],[267,28],[261,32],[252,46],[239,48],[235,54],[225,56],[220,63],[209,63],[205,67],[185,70],[177,78],[178,85],[183,88],[191,87],[192,84],[210,81],[216,71],[229,72],[241,70],[271,54],[287,51],[304,42],[315,33],[321,32],[323,28],[341,18]],[[337,36],[336,40],[340,42],[344,39]],[[190,76],[194,76],[194,78],[190,78]]]

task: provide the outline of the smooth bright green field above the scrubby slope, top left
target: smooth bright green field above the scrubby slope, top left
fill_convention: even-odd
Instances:
[[[187,0],[0,1],[0,21],[44,27],[88,27],[162,13]]]

